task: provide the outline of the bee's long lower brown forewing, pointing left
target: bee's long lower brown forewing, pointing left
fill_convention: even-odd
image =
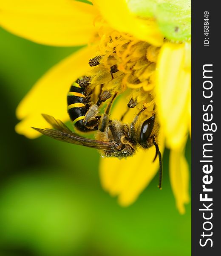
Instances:
[[[106,143],[100,140],[92,140],[85,137],[79,137],[79,136],[76,136],[74,133],[69,134],[69,133],[64,133],[62,131],[57,131],[52,129],[44,130],[40,128],[34,128],[34,127],[32,128],[48,137],[54,138],[55,140],[60,140],[60,141],[64,141],[72,144],[83,145],[89,148],[96,148],[96,149],[103,149],[103,150],[110,149],[111,147],[111,143]]]

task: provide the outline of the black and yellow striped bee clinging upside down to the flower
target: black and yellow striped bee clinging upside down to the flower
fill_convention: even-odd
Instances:
[[[157,144],[159,124],[156,122],[155,114],[145,119],[138,127],[136,123],[142,112],[146,110],[146,107],[143,107],[137,113],[130,124],[122,121],[125,114],[120,120],[111,120],[109,119],[109,113],[117,93],[104,90],[99,94],[96,104],[94,104],[91,101],[93,91],[89,85],[90,77],[88,76],[78,79],[71,85],[67,96],[68,114],[77,130],[82,132],[96,131],[95,140],[79,136],[79,134],[71,131],[60,120],[56,120],[53,116],[46,114],[42,114],[42,116],[55,130],[32,128],[56,140],[96,148],[104,157],[122,159],[133,156],[137,147],[150,148],[154,145],[156,155],[153,161],[158,156],[159,188],[161,189],[162,160]],[[111,100],[106,106],[105,113],[101,114],[99,112],[100,105],[110,98]],[[127,104],[128,110],[134,108],[136,104],[136,100],[130,99],[130,102]]]

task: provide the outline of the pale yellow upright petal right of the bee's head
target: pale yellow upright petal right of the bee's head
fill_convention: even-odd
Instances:
[[[187,134],[191,73],[185,44],[166,43],[156,67],[156,103],[167,146],[179,148]]]

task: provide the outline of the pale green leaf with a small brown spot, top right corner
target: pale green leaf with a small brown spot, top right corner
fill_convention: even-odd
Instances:
[[[156,18],[159,29],[167,39],[191,39],[190,0],[127,0],[127,4],[136,16]]]

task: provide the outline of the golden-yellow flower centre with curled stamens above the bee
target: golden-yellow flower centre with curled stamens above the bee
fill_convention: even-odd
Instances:
[[[100,27],[99,37],[97,55],[89,61],[93,68],[87,74],[91,77],[92,89],[102,85],[102,90],[118,94],[128,91],[128,99],[137,102],[136,108],[147,106],[153,113],[160,48],[105,25]]]

